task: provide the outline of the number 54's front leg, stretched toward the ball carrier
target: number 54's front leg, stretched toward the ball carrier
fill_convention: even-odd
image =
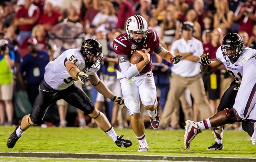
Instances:
[[[124,146],[127,148],[132,145],[132,141],[122,139],[122,136],[119,137],[116,135],[116,132],[110,125],[106,116],[98,109],[95,109],[92,101],[90,101],[90,98],[75,84],[72,84],[67,89],[63,90],[62,94],[65,101],[92,117],[98,127],[108,134],[108,136],[116,143],[117,146]]]

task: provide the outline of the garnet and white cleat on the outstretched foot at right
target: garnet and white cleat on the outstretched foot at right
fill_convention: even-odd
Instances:
[[[197,123],[191,120],[186,121],[184,135],[184,144],[186,149],[190,147],[190,143],[196,137],[196,135],[201,132],[202,131]]]

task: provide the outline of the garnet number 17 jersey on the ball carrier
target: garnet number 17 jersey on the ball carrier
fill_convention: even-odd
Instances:
[[[146,49],[150,54],[150,58],[152,57],[153,51],[158,48],[160,45],[160,39],[158,34],[152,30],[148,29],[146,41],[143,45],[135,45],[129,39],[126,33],[120,34],[116,39],[114,39],[113,47],[114,52],[118,56],[119,62],[130,62],[130,58],[132,54],[136,53],[141,49]],[[150,62],[142,69],[140,74],[145,74],[146,72],[150,72],[152,69],[152,62]]]

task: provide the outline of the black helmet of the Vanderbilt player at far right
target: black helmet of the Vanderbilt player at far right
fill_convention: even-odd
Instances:
[[[221,51],[226,59],[234,64],[244,50],[244,41],[242,37],[237,33],[229,33],[222,41]],[[232,53],[227,51],[233,51]],[[228,59],[227,59],[228,57]]]

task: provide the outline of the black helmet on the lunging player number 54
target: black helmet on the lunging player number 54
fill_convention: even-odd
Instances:
[[[86,39],[80,49],[84,60],[86,62],[86,67],[97,68],[102,60],[102,45],[95,39]]]

